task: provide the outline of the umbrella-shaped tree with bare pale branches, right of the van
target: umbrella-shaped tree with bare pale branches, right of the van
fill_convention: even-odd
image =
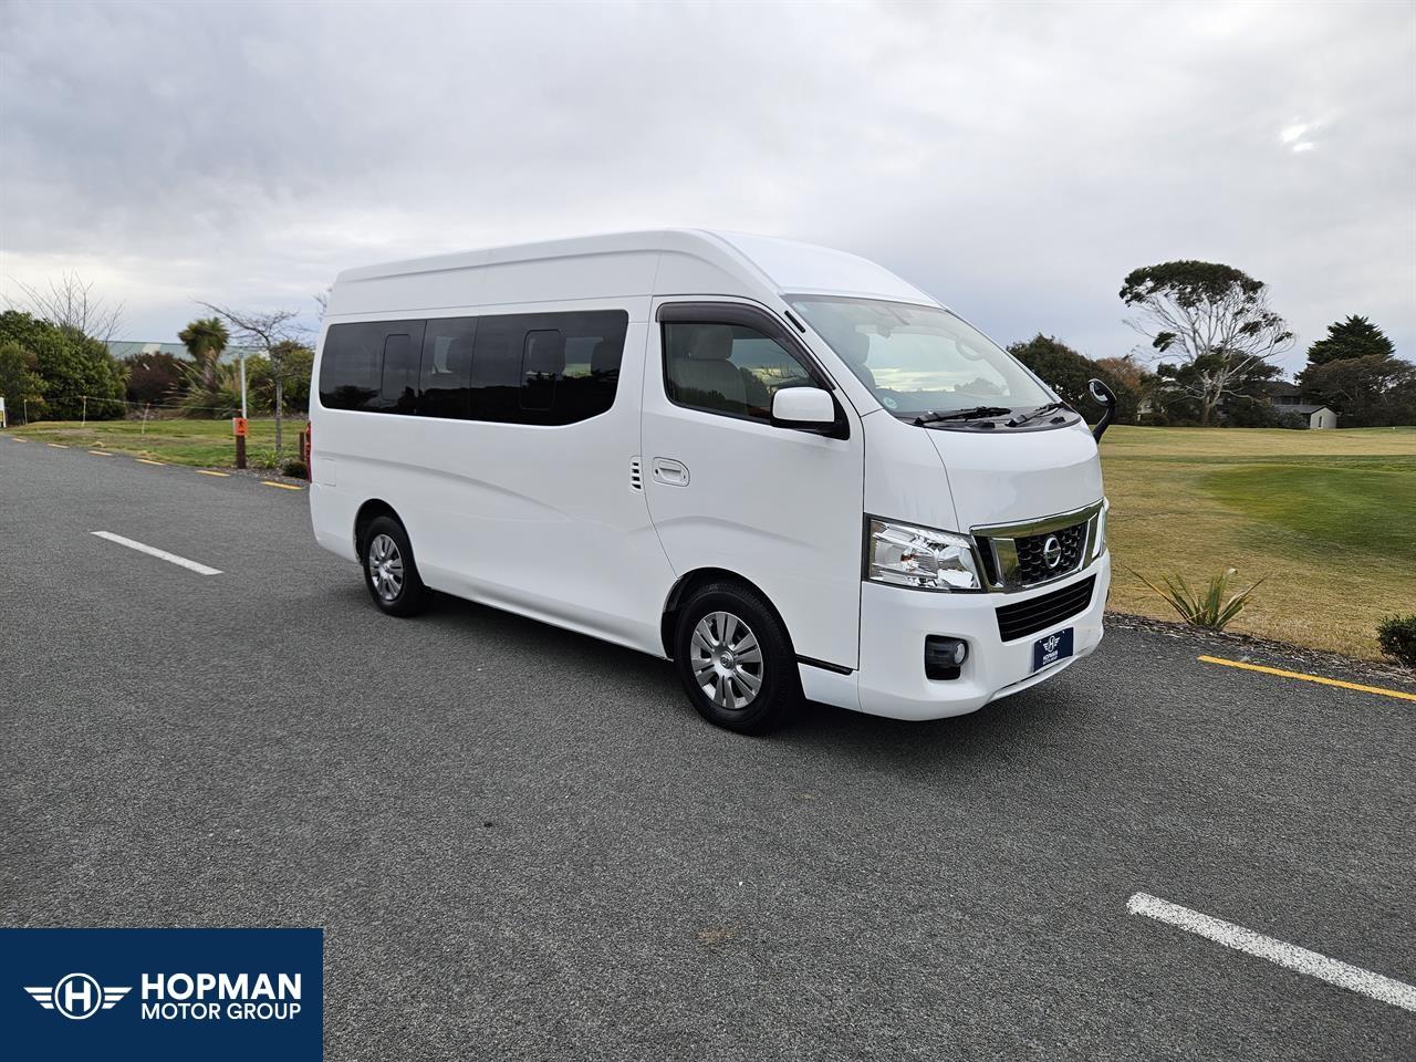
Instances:
[[[1127,323],[1150,338],[1155,357],[1175,358],[1155,375],[1194,404],[1201,425],[1226,398],[1272,377],[1263,374],[1269,358],[1293,346],[1267,293],[1262,280],[1218,262],[1163,262],[1121,283],[1121,302],[1137,310]]]

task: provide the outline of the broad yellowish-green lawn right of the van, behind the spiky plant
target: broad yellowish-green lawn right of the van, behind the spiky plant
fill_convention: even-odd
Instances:
[[[1194,586],[1267,576],[1229,630],[1381,658],[1416,612],[1416,428],[1112,428],[1102,443],[1112,607],[1177,619],[1129,569]]]

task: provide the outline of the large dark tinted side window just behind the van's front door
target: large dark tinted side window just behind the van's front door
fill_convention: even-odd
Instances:
[[[615,404],[627,327],[623,310],[479,319],[473,418],[566,425],[606,412]]]

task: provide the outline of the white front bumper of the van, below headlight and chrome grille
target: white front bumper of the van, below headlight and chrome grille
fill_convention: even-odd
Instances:
[[[998,636],[994,609],[1000,605],[1054,593],[1090,576],[1096,576],[1096,586],[1085,612],[1015,641]],[[861,711],[892,719],[942,719],[977,711],[990,701],[1046,681],[1100,644],[1110,585],[1110,552],[1103,552],[1070,579],[1022,593],[927,593],[862,582],[857,673]],[[1072,656],[1034,673],[1034,641],[1066,627],[1075,632]],[[925,637],[929,634],[969,641],[969,658],[959,678],[935,681],[925,677]]]

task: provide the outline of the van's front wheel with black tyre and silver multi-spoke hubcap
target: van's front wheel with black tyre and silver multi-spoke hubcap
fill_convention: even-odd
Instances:
[[[786,627],[756,590],[738,583],[708,583],[684,602],[674,664],[698,714],[729,731],[770,731],[801,701]]]

